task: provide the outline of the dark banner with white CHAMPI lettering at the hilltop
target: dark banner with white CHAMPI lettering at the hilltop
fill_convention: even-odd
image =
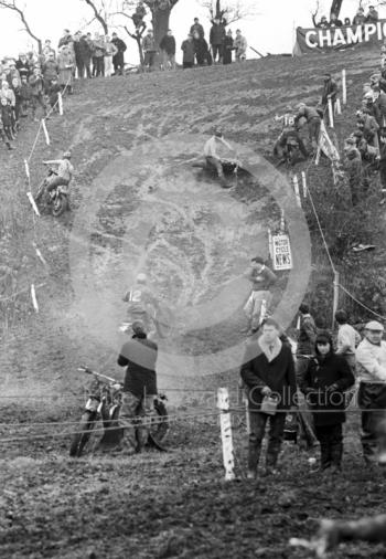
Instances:
[[[310,52],[336,51],[353,46],[376,46],[385,39],[386,20],[343,28],[298,28],[293,55],[300,56]]]

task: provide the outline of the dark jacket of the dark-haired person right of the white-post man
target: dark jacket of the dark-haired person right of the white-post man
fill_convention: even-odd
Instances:
[[[318,356],[310,360],[300,388],[315,425],[335,425],[345,421],[343,392],[354,382],[354,375],[343,357],[331,351],[324,359]]]

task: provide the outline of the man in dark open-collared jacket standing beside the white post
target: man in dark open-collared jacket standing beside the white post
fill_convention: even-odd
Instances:
[[[280,327],[268,318],[258,341],[248,344],[242,379],[247,387],[249,409],[248,478],[257,475],[261,443],[269,418],[266,474],[275,473],[275,466],[283,439],[286,412],[292,410],[296,399],[296,376],[291,349],[280,340]],[[277,398],[275,414],[268,415],[264,408],[267,397]]]

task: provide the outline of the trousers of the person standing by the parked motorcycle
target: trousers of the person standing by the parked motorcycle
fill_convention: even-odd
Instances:
[[[143,420],[149,420],[153,412],[154,395],[143,395],[139,398],[131,392],[124,392],[122,405],[119,418],[124,428],[124,449],[132,451],[141,451],[146,445],[149,436],[149,428]],[[127,426],[125,425],[127,421]]]

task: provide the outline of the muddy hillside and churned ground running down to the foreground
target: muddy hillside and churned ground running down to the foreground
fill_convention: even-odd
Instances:
[[[296,271],[280,275],[276,294],[280,316],[290,325],[305,294],[320,325],[331,324],[331,268],[309,201],[304,218],[287,177],[270,165],[279,131],[272,119],[288,104],[314,103],[321,73],[339,75],[345,67],[349,105],[336,124],[342,147],[354,127],[363,83],[377,64],[377,55],[347,51],[77,84],[75,95],[65,99],[65,116],[49,122],[51,146],[41,136],[31,162],[35,190],[44,176],[41,161],[73,150],[72,212],[57,220],[34,218],[25,196],[23,159],[36,125],[24,125],[17,151],[1,152],[0,296],[22,292],[1,302],[2,557],[307,559],[309,551],[292,549],[288,541],[311,537],[319,518],[384,511],[385,478],[362,465],[356,410],[347,421],[343,475],[312,476],[308,458],[318,454],[287,443],[280,479],[256,484],[242,475],[244,411],[233,414],[240,479],[233,484],[223,482],[218,418],[206,415],[215,410],[221,383],[232,390],[232,403],[240,404],[235,389],[248,283],[237,278],[251,255],[267,255],[267,226],[278,224],[280,205],[296,239]],[[192,167],[202,135],[218,126],[254,170],[230,190]],[[303,169],[299,164],[296,171]],[[331,231],[340,225],[355,241],[357,230],[351,233],[341,214],[332,217],[325,161],[310,168],[309,188],[323,219],[330,215]],[[377,201],[368,208],[375,212],[374,226],[361,241],[372,234],[376,251],[356,256],[346,251],[341,260],[335,252],[334,259],[346,285],[361,289],[355,277],[364,278],[366,303],[380,309],[384,209]],[[332,236],[326,231],[331,247]],[[183,309],[173,336],[160,342],[159,388],[176,413],[170,452],[132,458],[90,453],[71,460],[69,433],[86,384],[76,369],[87,363],[121,378],[116,366],[125,340],[118,333],[125,318],[121,297],[143,268],[159,296]],[[36,291],[39,314],[30,298],[32,282],[44,284]],[[355,318],[367,316],[349,299],[342,302]],[[189,421],[183,413],[200,416]],[[64,420],[74,423],[52,423]],[[40,421],[47,424],[34,423]],[[46,432],[57,436],[45,437]],[[336,559],[382,556],[382,546],[366,545],[334,553]]]

